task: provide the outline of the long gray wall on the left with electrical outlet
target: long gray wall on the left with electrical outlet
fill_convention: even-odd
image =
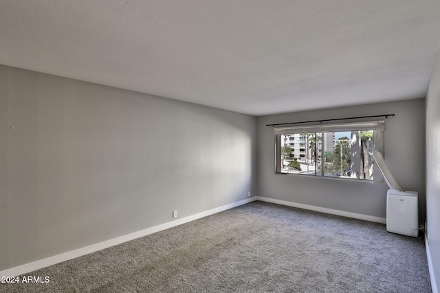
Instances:
[[[256,192],[256,117],[0,66],[0,271]]]

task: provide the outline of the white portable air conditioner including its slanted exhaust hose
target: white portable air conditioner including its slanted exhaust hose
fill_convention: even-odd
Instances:
[[[390,187],[386,193],[386,231],[417,237],[419,235],[417,192],[401,190],[386,166],[381,152],[374,152],[373,158],[386,184]]]

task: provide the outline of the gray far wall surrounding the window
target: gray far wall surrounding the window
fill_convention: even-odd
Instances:
[[[419,192],[419,218],[425,217],[425,100],[367,104],[258,117],[259,196],[315,207],[386,218],[386,191],[378,180],[340,180],[314,176],[275,174],[274,133],[266,124],[395,114],[384,132],[384,159],[399,185]]]

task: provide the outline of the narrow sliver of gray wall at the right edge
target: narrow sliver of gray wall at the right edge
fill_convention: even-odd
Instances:
[[[440,58],[426,97],[426,222],[432,270],[440,286]],[[432,273],[432,272],[431,272]]]

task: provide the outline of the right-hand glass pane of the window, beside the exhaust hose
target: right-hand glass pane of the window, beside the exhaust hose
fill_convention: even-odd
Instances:
[[[373,130],[324,132],[324,137],[324,176],[373,180]]]

